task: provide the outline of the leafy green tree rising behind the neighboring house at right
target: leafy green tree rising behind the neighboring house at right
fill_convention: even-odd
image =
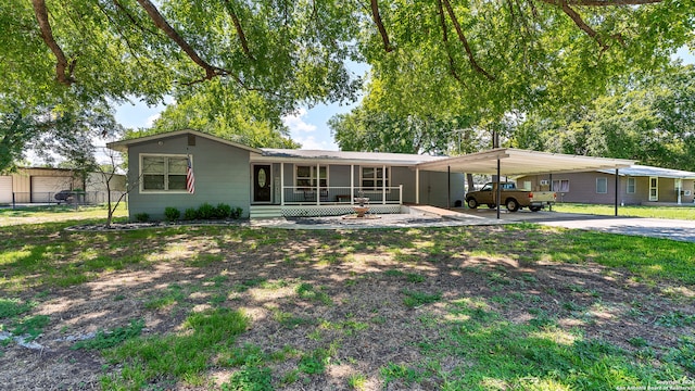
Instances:
[[[514,135],[519,148],[634,159],[695,169],[695,68],[621,79],[587,105],[530,115]]]

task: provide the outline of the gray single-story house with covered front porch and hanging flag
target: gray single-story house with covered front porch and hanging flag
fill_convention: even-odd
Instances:
[[[131,217],[162,218],[167,206],[184,212],[205,202],[239,206],[243,217],[341,215],[353,212],[357,195],[374,212],[399,213],[404,203],[453,205],[464,193],[463,174],[417,168],[446,156],[256,149],[194,130],[109,148],[128,153]],[[189,161],[193,193],[186,186]]]

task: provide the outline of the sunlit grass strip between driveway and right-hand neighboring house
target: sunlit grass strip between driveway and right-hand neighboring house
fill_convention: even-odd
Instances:
[[[553,212],[614,216],[616,214],[616,207],[615,205],[557,203],[553,205]],[[674,219],[692,220],[692,219],[695,219],[695,207],[692,205],[691,206],[626,205],[626,206],[618,206],[618,215],[629,216],[629,217],[674,218]]]

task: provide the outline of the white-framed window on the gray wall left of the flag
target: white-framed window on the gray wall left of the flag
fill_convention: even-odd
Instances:
[[[142,191],[186,191],[187,157],[141,155]]]

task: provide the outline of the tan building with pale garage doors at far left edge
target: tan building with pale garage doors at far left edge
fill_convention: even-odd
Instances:
[[[125,176],[116,175],[112,191],[125,190]],[[16,172],[0,176],[0,204],[56,202],[61,190],[86,191],[87,202],[101,202],[105,186],[98,173],[90,173],[84,184],[79,175],[70,168],[20,167]]]

